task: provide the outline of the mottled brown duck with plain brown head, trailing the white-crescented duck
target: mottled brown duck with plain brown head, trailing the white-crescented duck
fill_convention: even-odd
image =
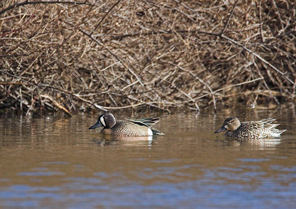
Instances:
[[[245,121],[239,122],[236,117],[227,118],[223,126],[215,131],[219,133],[221,131],[228,130],[224,136],[246,138],[246,139],[261,139],[266,137],[279,137],[282,132],[287,130],[276,129],[280,124],[272,124],[276,119],[267,118],[260,121]]]

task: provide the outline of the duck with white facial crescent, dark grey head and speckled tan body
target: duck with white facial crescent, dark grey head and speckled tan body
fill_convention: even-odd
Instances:
[[[152,126],[157,123],[159,118],[143,118],[143,119],[124,119],[115,121],[115,117],[109,113],[105,112],[99,116],[98,121],[89,129],[95,129],[97,127],[104,127],[101,133],[106,135],[115,136],[152,136],[152,135],[162,135]]]

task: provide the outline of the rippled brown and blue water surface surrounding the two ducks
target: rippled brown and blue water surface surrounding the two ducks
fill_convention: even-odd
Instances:
[[[161,117],[166,135],[115,138],[88,130],[99,115],[0,116],[0,207],[295,208],[293,108]],[[227,116],[275,117],[282,137],[214,134]]]

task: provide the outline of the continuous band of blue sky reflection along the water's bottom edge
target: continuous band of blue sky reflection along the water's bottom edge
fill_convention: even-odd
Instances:
[[[68,184],[64,185],[66,188]],[[63,187],[64,187],[63,186]],[[105,207],[292,207],[296,197],[296,183],[282,186],[273,181],[263,181],[258,186],[241,184],[219,184],[204,181],[141,185],[125,182],[122,185],[85,187],[77,184],[76,190],[47,187],[13,186],[1,188],[2,206],[41,206],[44,199],[52,205],[79,208]],[[266,189],[268,188],[268,189]],[[92,189],[93,191],[85,191]],[[32,200],[33,199],[33,200]],[[49,201],[50,200],[50,201]]]

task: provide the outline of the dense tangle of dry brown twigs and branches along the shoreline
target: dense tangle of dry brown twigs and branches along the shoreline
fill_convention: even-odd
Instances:
[[[296,102],[292,0],[7,0],[0,8],[0,111]]]

